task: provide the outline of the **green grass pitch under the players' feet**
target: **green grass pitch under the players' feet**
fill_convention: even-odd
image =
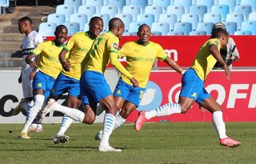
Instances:
[[[29,133],[30,140],[18,139],[22,124],[0,124],[0,163],[255,163],[255,122],[227,122],[232,138],[242,141],[237,148],[218,145],[211,122],[148,123],[140,132],[125,124],[111,135],[110,144],[120,153],[98,152],[92,126],[72,124],[70,141],[54,145],[58,124],[45,124],[43,133]]]

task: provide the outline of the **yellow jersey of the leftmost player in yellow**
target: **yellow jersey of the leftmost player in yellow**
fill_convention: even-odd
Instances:
[[[61,46],[56,46],[53,41],[42,42],[38,48],[31,50],[34,55],[38,55],[38,70],[52,78],[57,78],[62,70],[62,65],[58,60],[58,54],[62,51]]]

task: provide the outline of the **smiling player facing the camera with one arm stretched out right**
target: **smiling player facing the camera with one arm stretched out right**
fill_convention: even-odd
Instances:
[[[129,78],[123,74],[119,78],[114,90],[114,102],[121,111],[115,117],[114,129],[122,126],[130,113],[138,107],[156,58],[163,60],[180,74],[185,72],[168,57],[162,46],[150,42],[151,36],[150,26],[143,24],[138,28],[138,41],[126,42],[118,51],[119,57],[126,57],[126,70],[138,80],[139,87],[133,86]],[[95,139],[100,140],[101,138],[102,131],[99,131]]]

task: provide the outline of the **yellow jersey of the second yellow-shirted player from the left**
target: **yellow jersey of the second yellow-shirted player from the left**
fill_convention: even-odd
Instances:
[[[66,61],[70,64],[70,71],[62,69],[62,74],[68,77],[80,79],[81,64],[83,58],[90,50],[95,39],[90,38],[87,32],[74,34],[63,48],[69,52]]]

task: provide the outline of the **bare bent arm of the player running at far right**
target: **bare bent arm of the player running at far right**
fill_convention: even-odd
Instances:
[[[226,62],[223,60],[222,55],[218,50],[218,46],[211,44],[209,46],[209,51],[210,51],[210,54],[212,54],[214,58],[216,58],[216,60],[223,66],[223,69],[225,70],[226,78],[230,79],[230,69],[226,65]]]

